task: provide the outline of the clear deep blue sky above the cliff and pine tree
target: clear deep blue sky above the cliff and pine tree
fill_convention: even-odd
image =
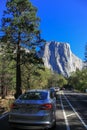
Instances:
[[[84,60],[87,43],[87,0],[30,0],[38,9],[41,37],[69,43],[71,51]],[[0,0],[0,23],[6,0]]]

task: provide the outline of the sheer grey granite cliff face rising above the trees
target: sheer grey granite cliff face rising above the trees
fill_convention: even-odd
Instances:
[[[69,77],[76,69],[83,68],[83,61],[71,52],[68,43],[47,42],[38,54],[43,58],[45,67],[65,77]]]

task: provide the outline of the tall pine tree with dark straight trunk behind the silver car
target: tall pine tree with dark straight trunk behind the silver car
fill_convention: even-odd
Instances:
[[[36,15],[37,9],[29,0],[8,0],[2,18],[1,41],[16,53],[16,93],[17,98],[21,93],[21,48],[30,51],[41,46],[39,23]]]

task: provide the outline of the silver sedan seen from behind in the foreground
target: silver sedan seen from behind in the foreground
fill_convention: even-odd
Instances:
[[[11,106],[11,127],[49,129],[56,125],[56,98],[50,90],[29,90]]]

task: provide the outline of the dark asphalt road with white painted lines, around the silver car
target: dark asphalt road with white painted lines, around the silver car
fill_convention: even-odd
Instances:
[[[3,129],[11,130],[8,114],[0,117],[0,130]],[[55,130],[87,130],[87,94],[59,91]]]

